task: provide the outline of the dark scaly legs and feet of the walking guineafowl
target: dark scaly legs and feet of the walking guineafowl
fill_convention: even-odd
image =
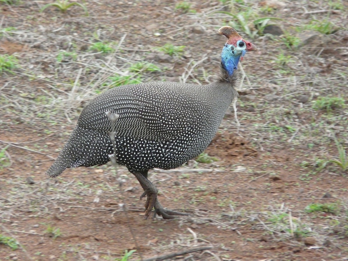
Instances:
[[[137,178],[141,187],[144,190],[144,193],[140,196],[140,199],[147,196],[147,200],[145,203],[145,219],[147,219],[152,211],[152,208],[155,208],[154,217],[156,214],[161,215],[163,219],[174,219],[175,216],[187,216],[187,213],[181,213],[169,209],[165,209],[157,199],[158,189],[155,185],[152,184],[146,177],[144,177],[139,172],[132,172],[132,174]]]

